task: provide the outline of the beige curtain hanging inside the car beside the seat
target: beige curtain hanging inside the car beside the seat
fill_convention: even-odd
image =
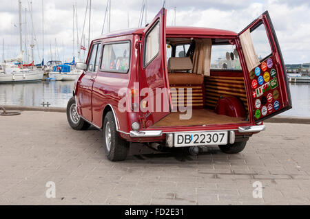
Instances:
[[[195,43],[193,72],[210,76],[212,41],[210,38],[206,38],[195,40]]]

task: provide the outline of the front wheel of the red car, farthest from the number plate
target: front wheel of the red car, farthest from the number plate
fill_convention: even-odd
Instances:
[[[86,130],[90,124],[85,122],[76,112],[75,97],[71,97],[67,105],[67,119],[71,128],[75,130]]]

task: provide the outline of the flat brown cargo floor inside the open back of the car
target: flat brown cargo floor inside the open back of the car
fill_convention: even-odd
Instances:
[[[156,122],[153,126],[197,126],[211,124],[234,124],[247,123],[241,117],[229,117],[227,115],[218,115],[213,110],[193,109],[191,119],[180,119],[179,115],[185,113],[170,113],[165,118]]]

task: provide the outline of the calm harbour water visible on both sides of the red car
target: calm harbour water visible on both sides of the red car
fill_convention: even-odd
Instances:
[[[72,97],[74,81],[0,84],[0,105],[41,106],[49,102],[54,107],[67,106]],[[310,84],[290,83],[293,108],[281,115],[310,117]]]

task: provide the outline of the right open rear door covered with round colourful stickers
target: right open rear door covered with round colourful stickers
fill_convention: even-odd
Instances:
[[[238,34],[251,90],[254,122],[289,110],[291,93],[280,46],[266,11]]]

